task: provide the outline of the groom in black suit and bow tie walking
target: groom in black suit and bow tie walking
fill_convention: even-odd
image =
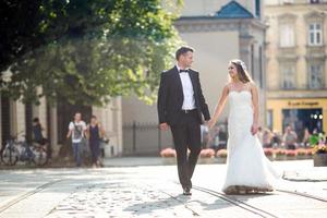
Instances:
[[[177,65],[161,73],[158,116],[160,129],[171,129],[180,183],[183,194],[191,195],[191,178],[201,152],[202,116],[208,121],[210,114],[202,94],[198,72],[190,69],[193,49],[181,47],[175,59]],[[191,150],[189,157],[187,148]]]

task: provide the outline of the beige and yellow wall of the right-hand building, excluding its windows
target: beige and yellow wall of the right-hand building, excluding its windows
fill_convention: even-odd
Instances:
[[[323,2],[323,1],[320,1]],[[310,1],[294,0],[291,4],[280,1],[266,1],[265,21],[267,21],[267,109],[272,112],[272,129],[282,130],[283,109],[323,110],[323,128],[327,130],[327,1],[311,4]],[[322,23],[323,44],[311,46],[308,44],[308,24]],[[282,26],[288,25],[294,29],[293,46],[282,47]],[[310,70],[312,63],[322,62],[322,86],[312,88],[310,85]],[[294,66],[294,87],[284,87],[282,65],[292,63]],[[289,104],[292,100],[296,104]],[[315,102],[314,105],[311,102]],[[294,106],[295,105],[295,106]]]

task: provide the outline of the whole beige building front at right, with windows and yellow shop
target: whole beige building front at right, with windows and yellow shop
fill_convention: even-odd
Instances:
[[[267,124],[327,131],[327,1],[266,0]]]

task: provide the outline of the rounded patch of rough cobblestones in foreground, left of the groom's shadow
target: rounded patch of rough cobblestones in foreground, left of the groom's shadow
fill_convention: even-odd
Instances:
[[[193,213],[153,186],[122,182],[87,186],[61,202],[48,217],[69,216],[192,217]]]

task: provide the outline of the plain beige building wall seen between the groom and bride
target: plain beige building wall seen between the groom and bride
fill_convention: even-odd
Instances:
[[[222,87],[228,83],[228,63],[239,57],[239,33],[192,32],[181,33],[180,36],[195,48],[193,68],[201,72],[203,93],[213,113]],[[227,110],[220,120],[226,118]]]

